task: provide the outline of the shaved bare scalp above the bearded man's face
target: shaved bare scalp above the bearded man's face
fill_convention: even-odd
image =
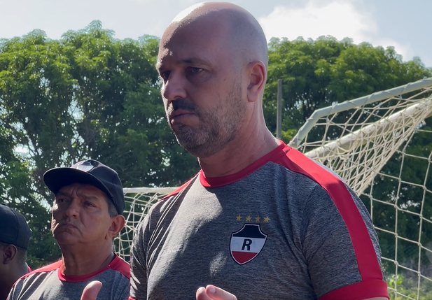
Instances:
[[[178,31],[198,29],[203,35],[219,35],[220,49],[229,51],[240,64],[260,61],[268,65],[267,41],[258,21],[244,8],[226,2],[198,3],[174,17],[162,36],[161,48]]]

